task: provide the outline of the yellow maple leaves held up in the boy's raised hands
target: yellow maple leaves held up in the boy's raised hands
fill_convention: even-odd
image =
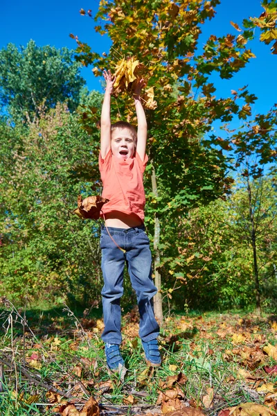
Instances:
[[[131,91],[134,92],[136,85],[141,78],[143,78],[144,65],[136,60],[133,56],[131,58],[123,58],[118,61],[116,65],[116,82],[114,83],[114,95],[118,96],[120,92]],[[154,89],[150,87],[142,94],[141,99],[145,108],[154,110],[157,107],[157,101],[154,101]]]

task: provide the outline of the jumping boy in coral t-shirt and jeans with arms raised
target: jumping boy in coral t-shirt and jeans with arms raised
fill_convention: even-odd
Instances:
[[[111,125],[110,104],[116,78],[104,71],[106,90],[101,113],[99,169],[103,184],[102,197],[109,199],[102,207],[105,227],[102,227],[102,307],[105,329],[102,340],[110,370],[124,365],[120,354],[120,297],[123,295],[123,268],[127,264],[132,287],[139,305],[141,337],[145,359],[149,365],[161,365],[157,344],[159,325],[154,318],[152,297],[157,288],[152,282],[151,252],[145,234],[143,172],[147,122],[141,104],[143,80],[137,83],[134,105],[138,130],[126,122]]]

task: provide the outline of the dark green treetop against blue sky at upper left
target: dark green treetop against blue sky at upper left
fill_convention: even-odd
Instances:
[[[79,71],[67,48],[39,47],[33,40],[19,49],[8,44],[0,51],[0,104],[16,119],[28,114],[33,120],[64,101],[75,110],[85,83]]]

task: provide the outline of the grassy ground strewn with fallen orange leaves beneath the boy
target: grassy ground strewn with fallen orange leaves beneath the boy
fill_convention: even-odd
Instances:
[[[67,307],[1,309],[1,415],[271,416],[277,413],[277,317],[170,315],[161,367],[147,367],[136,310],[123,317],[126,369],[109,372],[102,320]]]

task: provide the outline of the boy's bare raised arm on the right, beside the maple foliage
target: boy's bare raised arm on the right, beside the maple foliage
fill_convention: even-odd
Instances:
[[[145,117],[145,112],[143,110],[143,105],[141,104],[141,88],[145,86],[143,79],[139,81],[134,90],[134,105],[136,107],[136,116],[138,119],[138,142],[136,144],[136,152],[141,157],[141,160],[144,160],[146,141],[147,141],[147,121]]]

